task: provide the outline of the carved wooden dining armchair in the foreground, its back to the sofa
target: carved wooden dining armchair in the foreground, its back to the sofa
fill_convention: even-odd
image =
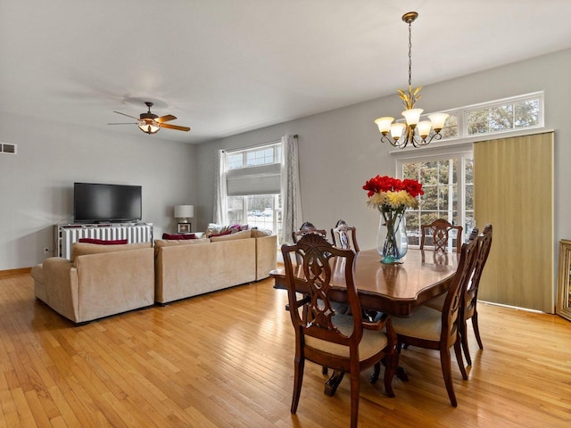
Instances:
[[[385,364],[385,391],[394,397],[392,381],[398,365],[396,335],[391,317],[371,323],[361,315],[360,300],[353,281],[355,252],[335,248],[319,234],[303,235],[294,245],[282,245],[288,309],[295,330],[294,393],[296,413],[302,391],[305,361],[348,373],[351,379],[351,426],[359,416],[360,372],[374,367],[378,377]],[[295,255],[302,265],[294,270]],[[332,268],[334,266],[335,268]],[[296,273],[297,276],[296,276]],[[331,300],[333,275],[345,279],[352,316],[335,311]],[[374,381],[372,378],[372,382]]]

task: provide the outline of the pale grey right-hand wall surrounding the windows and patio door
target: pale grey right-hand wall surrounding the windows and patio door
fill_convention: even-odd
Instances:
[[[448,60],[454,61],[453,58]],[[571,50],[552,53],[426,86],[418,103],[425,111],[440,111],[545,91],[545,127],[555,129],[554,248],[559,239],[571,238],[568,220],[571,212],[568,191],[571,183],[571,120],[567,117],[571,104],[569,70]],[[262,144],[285,134],[298,134],[304,220],[329,229],[337,219],[343,218],[357,226],[360,248],[374,248],[378,214],[365,205],[366,193],[361,188],[368,178],[377,174],[394,174],[395,162],[389,152],[395,149],[379,142],[373,121],[378,116],[400,116],[401,110],[395,88],[395,95],[390,97],[202,144],[198,151],[203,207],[199,228],[206,226],[212,218],[212,165],[217,149]],[[525,203],[533,203],[533,198]]]

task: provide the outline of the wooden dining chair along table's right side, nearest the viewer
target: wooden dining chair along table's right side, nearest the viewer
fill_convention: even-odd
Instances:
[[[444,384],[452,407],[457,407],[458,402],[452,383],[450,348],[454,347],[462,379],[467,380],[468,374],[462,359],[459,337],[460,307],[463,292],[474,272],[479,250],[477,240],[462,245],[458,268],[446,293],[442,312],[421,306],[408,318],[393,317],[393,328],[397,334],[399,352],[403,344],[440,351]]]

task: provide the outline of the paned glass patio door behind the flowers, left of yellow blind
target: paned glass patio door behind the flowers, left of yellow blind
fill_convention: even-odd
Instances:
[[[398,175],[422,183],[418,210],[406,211],[410,245],[420,244],[420,225],[445,218],[464,228],[464,237],[475,226],[472,152],[422,157],[399,161]],[[456,238],[452,245],[456,246]]]

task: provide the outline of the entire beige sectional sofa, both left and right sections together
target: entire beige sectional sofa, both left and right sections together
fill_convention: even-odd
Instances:
[[[276,268],[277,236],[257,230],[184,241],[74,243],[71,259],[32,268],[36,298],[81,324],[259,281]]]

